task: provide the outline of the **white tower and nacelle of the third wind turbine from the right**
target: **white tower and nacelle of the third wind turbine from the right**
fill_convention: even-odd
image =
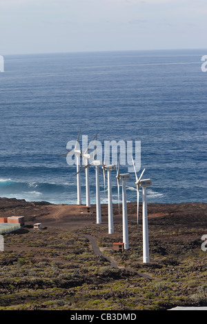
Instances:
[[[106,171],[108,172],[108,234],[114,233],[114,221],[113,221],[113,210],[112,210],[112,190],[111,190],[111,176],[110,172],[116,170],[115,165],[105,165],[103,163],[103,178],[105,186]]]

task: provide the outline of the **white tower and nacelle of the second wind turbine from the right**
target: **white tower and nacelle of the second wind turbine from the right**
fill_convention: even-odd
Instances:
[[[122,180],[122,214],[123,214],[123,242],[124,249],[128,250],[128,216],[126,207],[126,180],[130,179],[130,174],[119,174],[119,179]]]

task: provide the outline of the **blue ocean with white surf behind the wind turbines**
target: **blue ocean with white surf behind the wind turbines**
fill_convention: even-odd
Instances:
[[[96,132],[101,143],[141,141],[141,170],[152,180],[149,203],[206,202],[204,54],[207,50],[6,55],[0,72],[0,196],[77,203],[76,166],[59,156],[81,128],[89,141]],[[120,171],[128,172],[127,165]],[[106,203],[101,174],[100,187]],[[84,172],[81,191],[86,203]],[[126,194],[136,201],[133,172]],[[95,203],[92,167],[90,198]]]

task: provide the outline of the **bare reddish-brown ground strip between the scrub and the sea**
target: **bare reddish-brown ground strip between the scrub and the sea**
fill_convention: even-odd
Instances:
[[[137,204],[128,203],[128,222],[137,222]],[[148,220],[160,225],[174,227],[203,227],[207,232],[206,203],[148,203]],[[141,223],[141,203],[139,205],[139,223]],[[114,224],[122,223],[118,205],[113,205]],[[80,205],[52,205],[46,202],[26,202],[24,200],[0,198],[0,217],[20,215],[25,216],[28,223],[40,222],[43,226],[57,227],[63,230],[77,230],[88,227],[99,227],[96,224],[96,207],[92,205],[88,214]],[[108,226],[108,205],[101,205],[102,225]],[[156,221],[157,220],[157,221]],[[173,229],[172,229],[173,230]]]

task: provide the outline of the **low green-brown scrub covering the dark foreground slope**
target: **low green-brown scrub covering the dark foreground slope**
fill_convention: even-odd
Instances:
[[[202,224],[195,227],[155,219],[149,224],[150,263],[142,263],[141,224],[130,223],[130,249],[112,250],[106,227],[76,232],[34,231],[4,235],[0,252],[0,310],[166,310],[207,305]],[[96,256],[81,234],[97,238]],[[121,225],[115,225],[121,241]],[[119,268],[110,267],[106,257]],[[145,279],[140,274],[148,274]]]

